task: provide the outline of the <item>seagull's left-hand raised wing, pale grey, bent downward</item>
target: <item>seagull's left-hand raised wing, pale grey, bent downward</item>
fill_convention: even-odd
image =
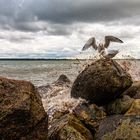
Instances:
[[[84,47],[82,48],[82,51],[84,51],[84,50],[90,48],[91,46],[92,46],[95,50],[97,50],[96,40],[95,40],[94,37],[90,38],[90,39],[86,42],[86,44],[85,44]]]

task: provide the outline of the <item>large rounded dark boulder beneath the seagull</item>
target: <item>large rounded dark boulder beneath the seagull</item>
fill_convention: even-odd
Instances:
[[[71,96],[103,105],[120,96],[131,85],[131,76],[115,60],[100,59],[78,75]]]

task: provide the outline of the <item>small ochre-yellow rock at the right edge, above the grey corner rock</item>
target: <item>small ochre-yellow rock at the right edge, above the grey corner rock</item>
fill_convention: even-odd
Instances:
[[[130,109],[125,113],[125,115],[140,116],[140,99],[135,99],[133,101]]]

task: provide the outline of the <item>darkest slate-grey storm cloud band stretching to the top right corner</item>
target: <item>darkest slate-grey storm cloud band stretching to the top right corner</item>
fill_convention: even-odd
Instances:
[[[54,23],[104,22],[140,14],[140,2],[134,0],[40,0],[30,2],[28,10],[39,20]]]

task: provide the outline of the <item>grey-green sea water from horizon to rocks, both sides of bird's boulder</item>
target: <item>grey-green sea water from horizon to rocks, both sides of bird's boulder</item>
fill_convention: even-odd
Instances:
[[[140,60],[117,61],[125,66],[134,80],[140,80]],[[86,60],[0,60],[0,76],[27,80],[40,86],[56,81],[61,74],[73,81],[86,63]]]

